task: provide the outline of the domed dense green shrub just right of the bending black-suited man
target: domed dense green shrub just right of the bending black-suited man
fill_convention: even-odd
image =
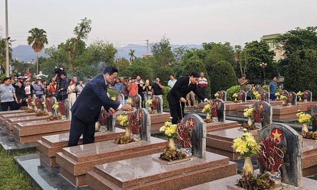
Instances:
[[[228,61],[215,63],[210,72],[211,94],[225,90],[236,84],[234,69]]]

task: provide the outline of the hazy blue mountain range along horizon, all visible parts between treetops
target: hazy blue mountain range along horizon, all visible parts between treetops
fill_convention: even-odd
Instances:
[[[153,44],[149,44],[149,54],[151,54],[151,47],[152,47]],[[172,45],[172,50],[174,48],[178,48],[178,47],[181,47],[182,45],[178,45],[178,44],[175,44],[175,45]],[[197,48],[197,49],[203,49],[202,45],[195,45],[195,44],[186,44],[184,45],[186,47],[188,47],[188,49],[191,49],[191,48]],[[117,58],[120,58],[120,57],[124,57],[126,59],[129,60],[129,52],[130,52],[130,49],[134,49],[135,50],[135,56],[136,57],[142,57],[142,55],[146,54],[146,46],[143,46],[143,45],[136,45],[136,44],[129,44],[125,47],[120,47],[118,48],[118,53],[117,53]],[[15,48],[13,48],[13,53],[12,53],[12,57],[13,59],[15,58],[18,58],[19,61],[29,61],[31,62],[32,59],[36,59],[36,53],[33,51],[32,47],[31,46],[28,46],[28,45],[19,45]],[[40,56],[44,56],[44,57],[49,57],[47,54],[45,54],[45,48],[39,52],[39,57]]]

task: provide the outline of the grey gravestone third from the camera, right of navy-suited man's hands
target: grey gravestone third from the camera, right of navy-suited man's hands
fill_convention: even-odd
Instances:
[[[140,122],[141,140],[150,142],[151,137],[151,117],[145,108],[140,108],[136,111],[137,118]]]

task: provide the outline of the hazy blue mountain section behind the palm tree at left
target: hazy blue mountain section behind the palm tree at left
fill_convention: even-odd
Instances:
[[[42,49],[41,52],[39,52],[39,57],[49,57],[47,54],[45,54],[45,48]],[[31,46],[28,45],[19,45],[12,49],[12,58],[18,58],[19,61],[29,61],[32,62],[32,59],[34,59],[34,62],[36,61],[36,53],[32,49]]]

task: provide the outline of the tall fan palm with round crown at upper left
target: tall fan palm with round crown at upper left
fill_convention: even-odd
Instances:
[[[39,52],[44,48],[44,44],[48,44],[46,32],[43,29],[32,28],[29,30],[31,36],[28,36],[28,44],[32,44],[32,49],[36,53],[36,74],[39,73]]]

